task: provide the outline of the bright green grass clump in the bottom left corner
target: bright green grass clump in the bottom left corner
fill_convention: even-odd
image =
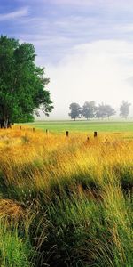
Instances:
[[[32,267],[29,261],[33,249],[26,236],[19,236],[17,226],[7,226],[0,220],[0,266],[1,267]]]

